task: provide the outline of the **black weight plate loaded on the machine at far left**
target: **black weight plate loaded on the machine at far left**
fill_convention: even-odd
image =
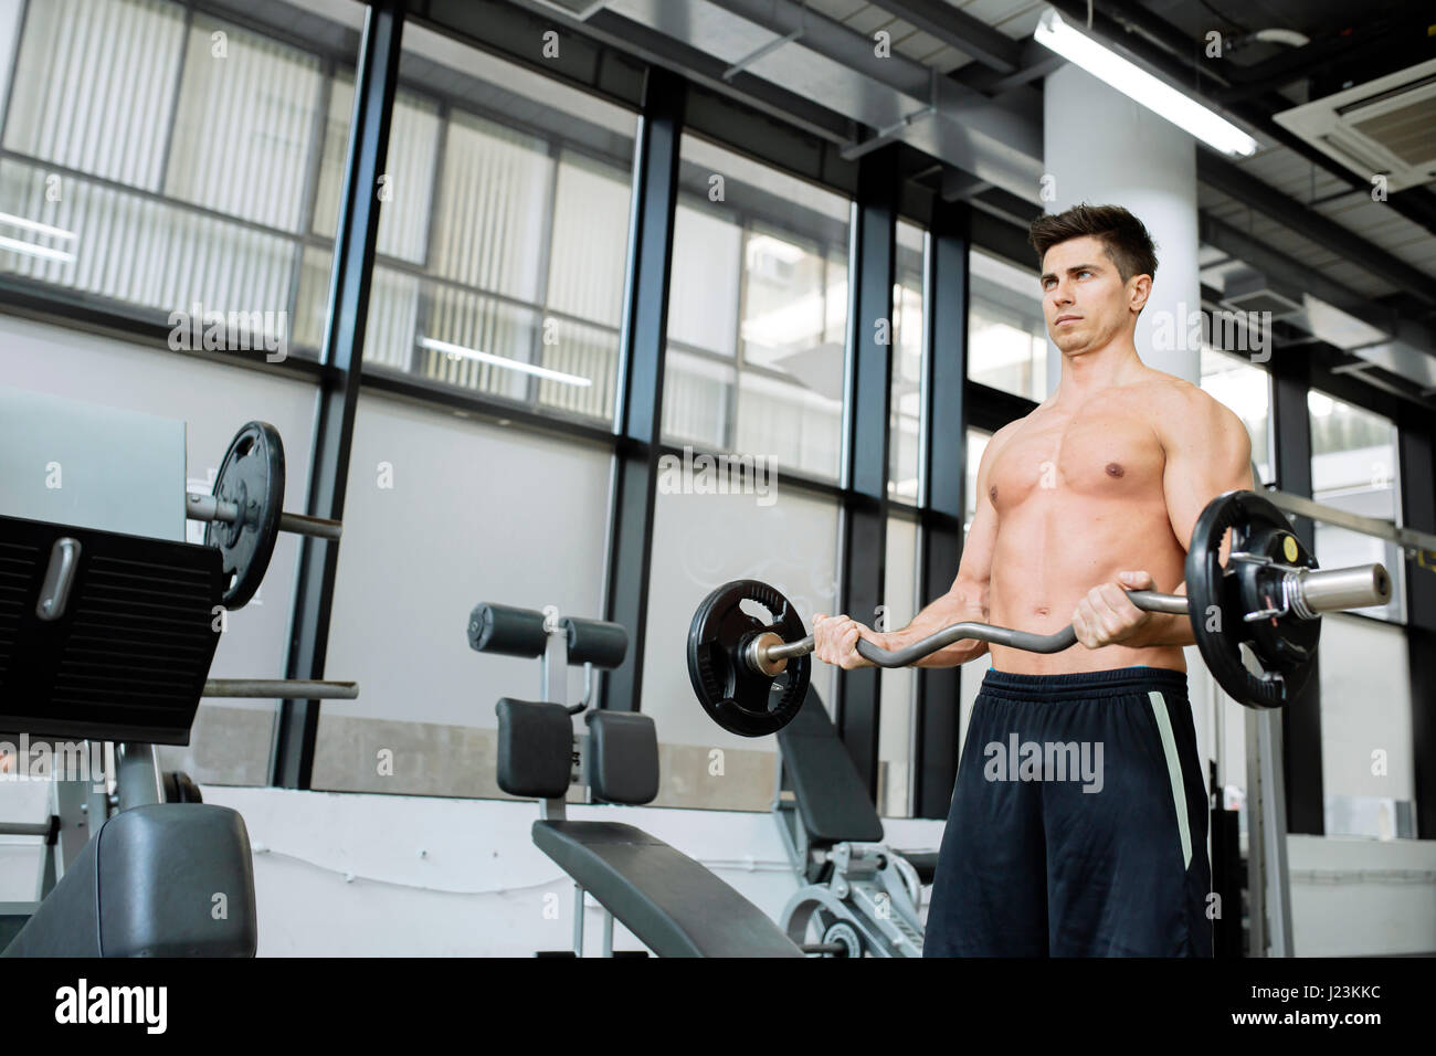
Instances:
[[[240,519],[210,522],[204,542],[224,557],[227,609],[248,603],[269,570],[284,511],[284,444],[269,422],[251,421],[234,434],[220,463],[214,496],[234,503]]]

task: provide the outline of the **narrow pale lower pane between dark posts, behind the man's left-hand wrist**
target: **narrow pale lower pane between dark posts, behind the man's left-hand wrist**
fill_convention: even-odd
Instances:
[[[918,524],[887,519],[882,626],[908,626],[922,608],[918,603]],[[862,621],[862,616],[857,618]],[[877,812],[885,818],[912,818],[912,736],[918,694],[918,668],[883,668],[879,675]]]

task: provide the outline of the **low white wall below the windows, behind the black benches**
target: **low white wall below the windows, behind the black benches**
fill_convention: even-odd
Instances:
[[[261,957],[528,957],[572,948],[572,881],[530,839],[534,803],[204,792],[205,802],[240,810],[263,848],[254,858]],[[651,832],[774,920],[798,888],[770,815],[570,806],[569,816]],[[909,849],[933,849],[941,828],[906,820],[890,832]],[[544,915],[550,894],[556,918]],[[602,948],[596,909],[586,915],[584,947]],[[615,948],[642,944],[616,927]]]

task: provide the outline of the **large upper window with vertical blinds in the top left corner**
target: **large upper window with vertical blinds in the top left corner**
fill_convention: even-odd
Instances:
[[[335,0],[303,17],[345,36],[365,9]],[[251,348],[316,345],[304,326],[329,256],[309,218],[339,194],[342,171],[317,161],[326,144],[345,151],[335,70],[353,55],[168,0],[10,0],[0,26],[17,36],[0,273],[171,325],[197,305],[243,318]]]

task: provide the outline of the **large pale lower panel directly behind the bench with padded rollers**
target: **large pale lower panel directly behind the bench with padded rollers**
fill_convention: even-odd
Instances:
[[[462,625],[478,602],[602,616],[610,466],[602,447],[360,394],[326,672],[363,694],[320,713],[316,789],[500,796],[494,704],[536,700],[538,662],[474,652]],[[574,703],[583,668],[567,677]]]

